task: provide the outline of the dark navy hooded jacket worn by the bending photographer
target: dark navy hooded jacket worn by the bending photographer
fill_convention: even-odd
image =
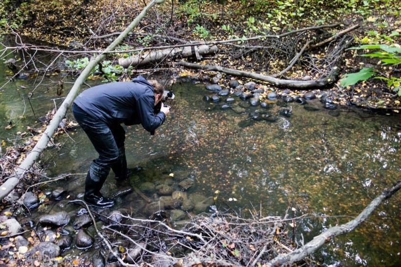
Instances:
[[[142,124],[153,132],[165,121],[165,113],[154,113],[153,87],[142,76],[131,82],[116,82],[84,90],[74,103],[106,124]]]

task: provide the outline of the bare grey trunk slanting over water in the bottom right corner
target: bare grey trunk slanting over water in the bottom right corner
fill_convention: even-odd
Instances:
[[[382,200],[390,198],[401,188],[401,181],[398,181],[392,188],[384,190],[376,199],[372,200],[370,204],[352,221],[341,224],[338,226],[330,227],[322,234],[315,236],[312,241],[306,245],[294,250],[291,253],[280,255],[271,260],[267,266],[276,267],[283,264],[292,264],[300,261],[312,254],[326,242],[329,242],[333,237],[339,236],[344,233],[351,232],[356,226],[365,221],[371,213],[377,208]]]

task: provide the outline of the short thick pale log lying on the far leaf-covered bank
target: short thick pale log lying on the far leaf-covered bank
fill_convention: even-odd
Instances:
[[[166,57],[175,58],[177,56],[181,57],[196,57],[197,59],[201,59],[202,55],[215,54],[218,51],[216,45],[199,45],[199,46],[184,46],[184,47],[175,47],[175,48],[167,48],[163,50],[156,50],[146,52],[144,54],[131,56],[128,58],[120,58],[118,60],[118,64],[122,67],[140,67],[152,62],[160,62]]]

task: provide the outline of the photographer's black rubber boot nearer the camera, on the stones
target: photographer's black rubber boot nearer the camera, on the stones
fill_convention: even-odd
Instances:
[[[85,202],[101,208],[114,205],[113,199],[105,198],[100,193],[100,189],[109,175],[109,172],[110,169],[105,169],[95,162],[92,162],[85,180]]]

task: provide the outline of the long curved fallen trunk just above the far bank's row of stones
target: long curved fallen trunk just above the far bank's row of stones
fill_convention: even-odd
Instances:
[[[323,88],[331,85],[335,82],[336,77],[338,76],[338,68],[334,67],[332,71],[324,77],[321,77],[317,80],[310,81],[297,81],[297,80],[285,80],[278,79],[273,76],[263,75],[259,73],[253,73],[249,71],[237,70],[233,68],[221,67],[217,65],[199,65],[194,63],[188,63],[184,61],[174,63],[176,66],[184,66],[190,68],[204,69],[204,70],[213,70],[224,72],[230,75],[252,78],[259,81],[268,82],[269,84],[273,84],[279,87],[285,88],[293,88],[293,89],[311,89],[311,88]]]

